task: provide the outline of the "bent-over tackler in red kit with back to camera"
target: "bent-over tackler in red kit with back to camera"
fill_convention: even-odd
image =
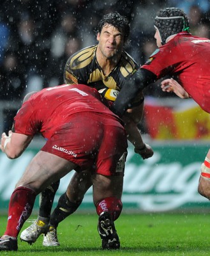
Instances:
[[[1,150],[10,159],[19,157],[38,132],[46,143],[29,163],[11,195],[0,251],[18,250],[17,237],[31,215],[36,195],[71,170],[91,172],[102,246],[119,248],[114,221],[122,209],[128,143],[121,119],[100,97],[96,89],[83,84],[45,88],[22,104],[9,136],[3,132]]]

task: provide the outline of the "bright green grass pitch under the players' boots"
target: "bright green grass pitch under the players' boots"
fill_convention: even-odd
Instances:
[[[33,218],[33,217],[32,217]],[[36,218],[36,217],[34,217]],[[0,232],[6,216],[0,216]],[[31,218],[29,219],[31,220]],[[42,237],[32,246],[19,240],[18,252],[1,255],[209,255],[210,214],[121,214],[115,222],[121,249],[101,250],[96,214],[73,214],[58,227],[61,246],[44,247]],[[30,223],[27,221],[22,228]]]

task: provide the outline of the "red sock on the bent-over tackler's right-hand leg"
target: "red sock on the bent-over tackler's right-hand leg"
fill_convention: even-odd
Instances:
[[[115,196],[104,198],[103,200],[100,200],[96,204],[97,214],[100,215],[101,212],[105,212],[105,211],[110,212],[113,221],[119,218],[122,209],[123,209],[123,203],[119,198],[116,198]]]

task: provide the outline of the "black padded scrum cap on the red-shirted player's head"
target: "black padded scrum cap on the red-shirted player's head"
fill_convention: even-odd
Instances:
[[[186,13],[174,7],[160,10],[155,18],[154,26],[160,31],[162,44],[165,44],[170,35],[175,35],[181,31],[190,32]]]

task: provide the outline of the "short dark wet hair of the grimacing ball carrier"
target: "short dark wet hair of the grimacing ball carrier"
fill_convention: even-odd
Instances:
[[[118,12],[103,15],[100,22],[98,22],[96,33],[101,33],[101,29],[107,24],[114,26],[121,33],[123,33],[124,42],[126,42],[130,34],[130,23],[125,16],[120,15]]]

